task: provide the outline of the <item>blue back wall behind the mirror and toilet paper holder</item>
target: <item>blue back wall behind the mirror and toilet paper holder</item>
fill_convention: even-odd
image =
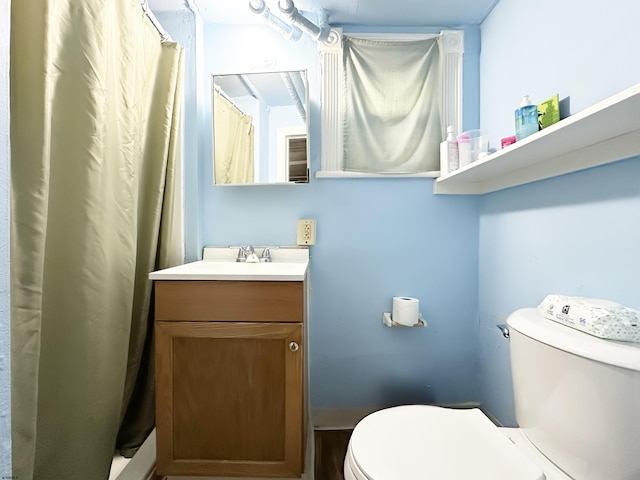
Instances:
[[[465,121],[478,122],[479,30],[465,31]],[[320,167],[318,53],[258,26],[205,27],[205,72],[275,64],[305,68],[311,99],[307,185],[211,185],[210,101],[200,126],[205,245],[293,245],[296,221],[317,220],[311,247],[313,408],[478,400],[478,199],[443,198],[432,179],[316,179]],[[425,329],[389,329],[391,299],[420,299]]]

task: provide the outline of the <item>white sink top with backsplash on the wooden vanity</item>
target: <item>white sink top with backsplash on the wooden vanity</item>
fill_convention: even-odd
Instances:
[[[261,252],[261,248],[256,248]],[[271,262],[236,262],[237,248],[206,247],[203,259],[149,274],[151,280],[302,281],[309,265],[307,247],[270,247]]]

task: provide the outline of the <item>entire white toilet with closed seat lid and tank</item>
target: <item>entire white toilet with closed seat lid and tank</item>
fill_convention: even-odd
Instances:
[[[507,319],[516,419],[388,408],[355,427],[345,480],[638,480],[640,344],[603,340],[534,308]]]

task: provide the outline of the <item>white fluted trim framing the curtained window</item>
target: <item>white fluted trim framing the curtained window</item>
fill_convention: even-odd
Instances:
[[[421,40],[440,37],[440,49],[443,56],[442,68],[442,124],[444,138],[446,127],[454,126],[456,132],[462,131],[462,56],[464,54],[464,32],[462,30],[443,30],[440,34],[388,34],[357,33],[349,34],[357,38],[388,39],[398,41]],[[401,178],[401,177],[437,177],[438,172],[426,172],[414,175],[361,174],[345,172],[342,169],[342,126],[343,126],[343,64],[342,37],[340,28],[332,28],[324,42],[318,42],[320,53],[320,170],[316,178]],[[437,173],[437,174],[436,174]]]

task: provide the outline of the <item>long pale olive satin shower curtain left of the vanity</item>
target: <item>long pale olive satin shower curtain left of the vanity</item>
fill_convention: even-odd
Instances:
[[[11,7],[12,478],[104,480],[122,419],[144,412],[133,448],[153,427],[147,276],[183,260],[182,49],[139,0]]]

